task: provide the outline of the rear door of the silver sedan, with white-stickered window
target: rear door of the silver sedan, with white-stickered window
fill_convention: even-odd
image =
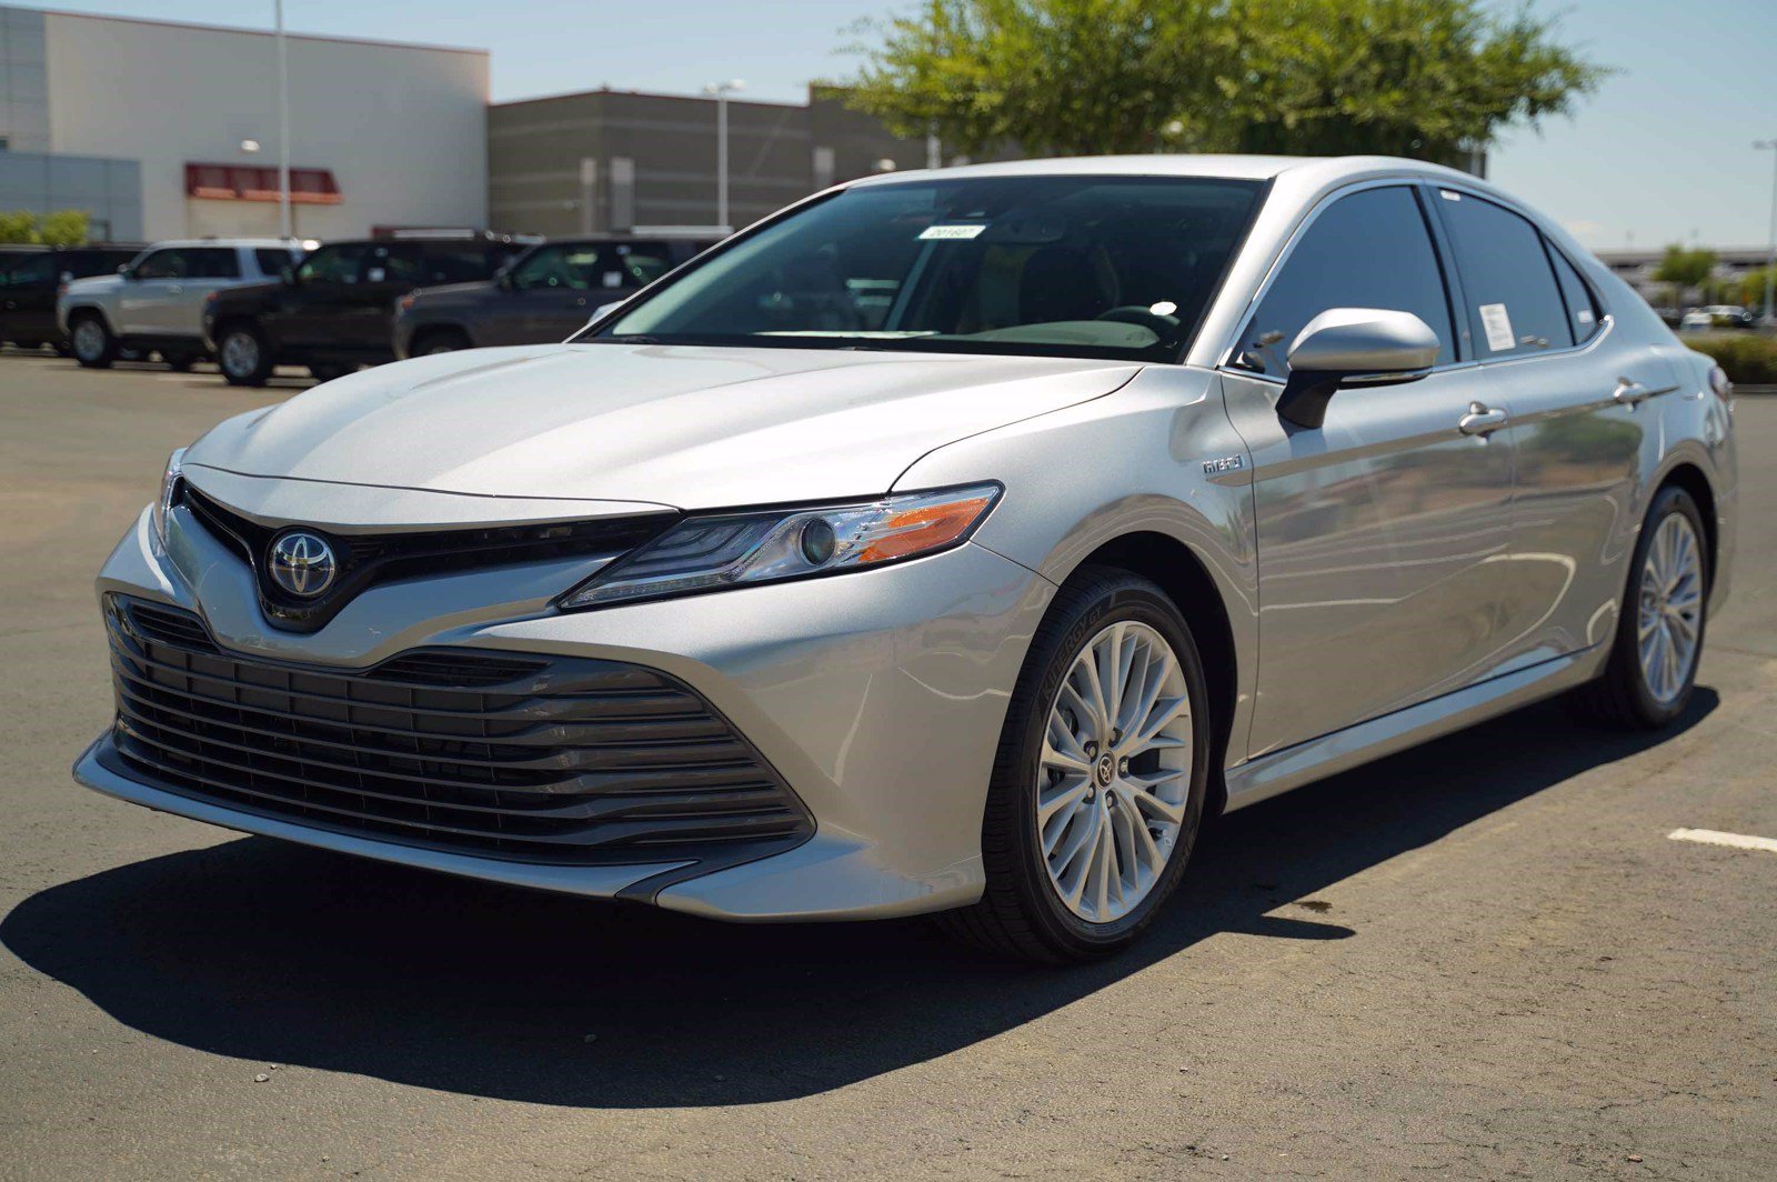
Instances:
[[[1526,217],[1471,190],[1429,192],[1475,354],[1512,409],[1505,656],[1530,665],[1610,638],[1640,526],[1637,476],[1660,448],[1654,400],[1676,386],[1653,343],[1615,331],[1573,260]]]

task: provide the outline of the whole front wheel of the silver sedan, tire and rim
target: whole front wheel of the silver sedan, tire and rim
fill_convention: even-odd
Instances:
[[[1173,601],[1123,571],[1075,576],[1008,709],[981,832],[986,890],[942,922],[1050,963],[1127,947],[1183,875],[1208,752],[1203,663]]]

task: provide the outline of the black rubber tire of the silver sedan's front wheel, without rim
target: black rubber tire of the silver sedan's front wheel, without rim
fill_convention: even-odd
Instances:
[[[1075,654],[1118,620],[1148,624],[1173,647],[1191,695],[1194,750],[1183,823],[1160,880],[1127,915],[1095,924],[1070,912],[1056,894],[1032,819],[1043,734],[1061,681]],[[992,953],[1043,963],[1098,960],[1132,944],[1171,898],[1191,860],[1208,791],[1210,732],[1203,661],[1191,626],[1166,592],[1127,571],[1077,572],[1043,617],[1006,713],[981,825],[986,890],[979,903],[940,915],[940,926]]]

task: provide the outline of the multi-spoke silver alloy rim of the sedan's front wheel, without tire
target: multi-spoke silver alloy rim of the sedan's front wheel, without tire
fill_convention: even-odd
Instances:
[[[1153,627],[1111,624],[1056,693],[1036,782],[1038,844],[1077,917],[1128,915],[1178,844],[1191,795],[1191,693]]]

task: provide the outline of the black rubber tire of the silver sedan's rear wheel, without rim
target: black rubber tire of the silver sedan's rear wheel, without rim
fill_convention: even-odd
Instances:
[[[1690,663],[1683,688],[1669,702],[1660,702],[1647,688],[1638,651],[1638,604],[1642,597],[1642,576],[1647,563],[1647,549],[1653,546],[1660,523],[1672,514],[1690,519],[1690,528],[1697,535],[1699,562],[1702,569],[1702,610],[1697,613],[1697,654]],[[1612,642],[1610,659],[1598,679],[1580,686],[1569,695],[1569,704],[1583,720],[1617,731],[1656,731],[1670,725],[1685,707],[1697,686],[1697,667],[1702,663],[1702,643],[1708,631],[1709,569],[1708,530],[1704,530],[1702,512],[1697,501],[1677,485],[1667,485],[1654,494],[1642,521],[1642,533],[1635,542],[1635,555],[1630,560],[1630,579],[1622,592],[1622,604],[1617,613],[1617,636]]]

